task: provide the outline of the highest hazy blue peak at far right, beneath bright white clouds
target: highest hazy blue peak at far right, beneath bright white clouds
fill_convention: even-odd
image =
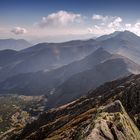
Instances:
[[[110,53],[120,54],[140,64],[140,37],[136,34],[129,31],[117,31],[96,40],[99,41],[100,47]]]

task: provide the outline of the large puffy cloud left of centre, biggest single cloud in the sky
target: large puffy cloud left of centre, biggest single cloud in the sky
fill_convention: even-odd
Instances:
[[[50,26],[67,26],[73,23],[78,23],[82,19],[80,14],[75,14],[67,11],[58,11],[42,18],[42,21],[38,23],[40,27]]]

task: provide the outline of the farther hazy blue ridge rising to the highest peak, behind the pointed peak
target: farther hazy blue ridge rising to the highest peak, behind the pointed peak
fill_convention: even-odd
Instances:
[[[102,39],[101,39],[102,38]],[[140,64],[140,37],[129,31],[115,32],[96,40],[76,40],[64,43],[40,43],[21,50],[14,61],[3,61],[0,81],[20,73],[50,71],[89,55],[98,48],[120,54]],[[4,59],[4,58],[1,58]]]

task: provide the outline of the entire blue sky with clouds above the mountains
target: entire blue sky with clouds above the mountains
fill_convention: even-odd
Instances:
[[[140,0],[0,0],[0,38],[30,42],[140,35]]]

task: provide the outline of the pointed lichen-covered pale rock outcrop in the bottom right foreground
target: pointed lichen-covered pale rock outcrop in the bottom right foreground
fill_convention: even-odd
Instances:
[[[115,101],[99,112],[94,127],[86,140],[139,140],[140,132],[127,115],[120,101]]]

